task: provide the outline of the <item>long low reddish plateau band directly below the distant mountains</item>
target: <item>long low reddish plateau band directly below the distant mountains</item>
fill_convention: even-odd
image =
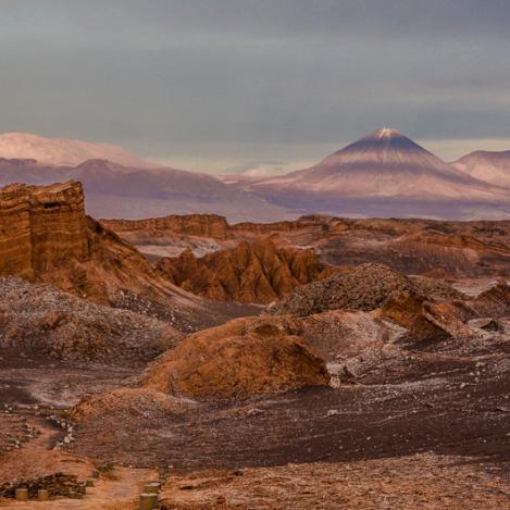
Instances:
[[[179,217],[179,216],[177,216]],[[199,234],[201,227],[203,235]],[[406,274],[462,277],[510,274],[510,222],[352,220],[302,216],[276,223],[226,224],[221,216],[111,220],[104,224],[144,253],[196,257],[271,237],[276,246],[314,248],[334,265],[380,262]],[[216,226],[217,225],[217,226]],[[221,227],[220,227],[221,225]]]

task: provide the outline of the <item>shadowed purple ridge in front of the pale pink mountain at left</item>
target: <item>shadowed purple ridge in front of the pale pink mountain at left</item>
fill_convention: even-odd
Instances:
[[[70,179],[83,184],[87,213],[95,217],[137,220],[189,213],[216,213],[233,222],[296,217],[256,194],[232,188],[208,174],[163,166],[124,166],[103,159],[87,160],[76,166],[0,159],[0,186],[47,185]]]

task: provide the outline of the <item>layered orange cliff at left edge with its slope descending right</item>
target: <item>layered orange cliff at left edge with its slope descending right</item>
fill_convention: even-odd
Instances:
[[[85,215],[79,183],[7,186],[0,219],[0,276],[49,283],[184,329],[249,313],[214,309],[163,278],[134,247]]]

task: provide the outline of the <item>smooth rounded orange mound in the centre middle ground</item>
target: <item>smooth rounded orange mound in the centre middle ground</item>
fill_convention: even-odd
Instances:
[[[298,336],[238,320],[196,333],[149,366],[142,386],[176,396],[246,399],[327,385],[324,362]]]

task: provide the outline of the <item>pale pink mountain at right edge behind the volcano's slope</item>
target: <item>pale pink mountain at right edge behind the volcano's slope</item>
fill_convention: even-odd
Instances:
[[[473,177],[510,188],[510,150],[476,150],[451,164]]]

